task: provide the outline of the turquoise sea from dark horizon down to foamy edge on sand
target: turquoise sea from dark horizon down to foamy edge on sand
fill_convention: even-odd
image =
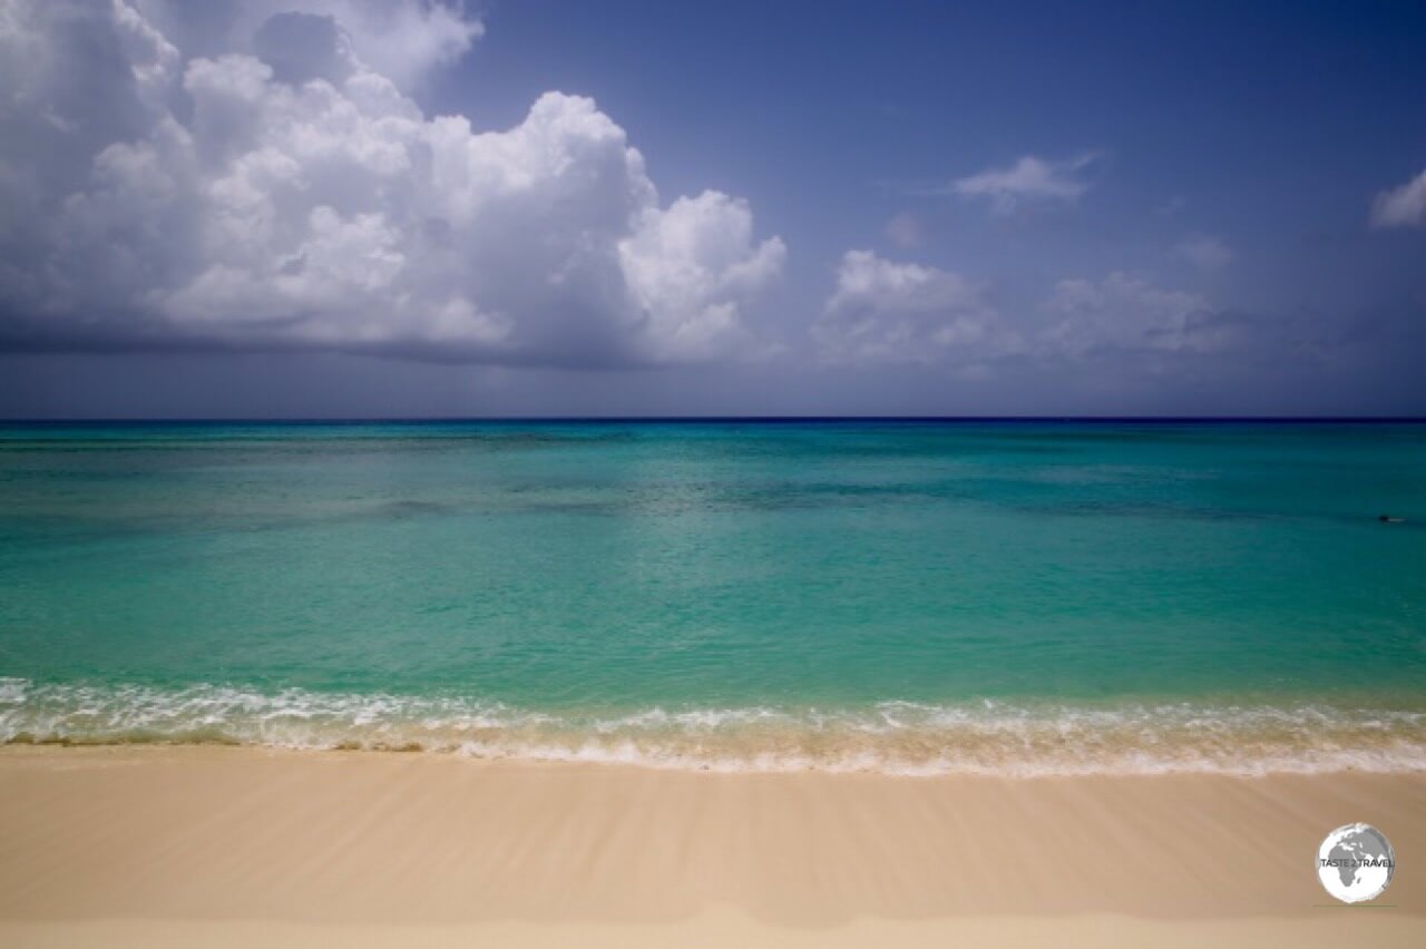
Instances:
[[[9,426],[0,591],[3,741],[1426,768],[1422,425]]]

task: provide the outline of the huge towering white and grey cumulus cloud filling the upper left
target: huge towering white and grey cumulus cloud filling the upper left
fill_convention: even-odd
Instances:
[[[746,202],[663,204],[589,98],[479,131],[402,91],[481,34],[459,7],[222,10],[0,14],[0,345],[569,366],[766,349],[744,306],[786,247]]]

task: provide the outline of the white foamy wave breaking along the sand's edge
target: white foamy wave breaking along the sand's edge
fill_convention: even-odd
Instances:
[[[0,678],[0,742],[426,751],[697,771],[1399,772],[1426,771],[1426,710],[984,700],[546,712],[471,698]]]

